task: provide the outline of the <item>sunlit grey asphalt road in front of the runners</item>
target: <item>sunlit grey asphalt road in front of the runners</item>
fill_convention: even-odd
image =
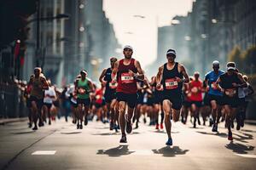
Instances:
[[[140,124],[120,145],[120,133],[108,124],[89,122],[77,130],[71,122],[32,131],[26,122],[0,126],[1,169],[253,169],[256,166],[256,128],[246,124],[234,141],[210,127],[192,128],[190,122],[172,124],[173,146],[166,133]]]

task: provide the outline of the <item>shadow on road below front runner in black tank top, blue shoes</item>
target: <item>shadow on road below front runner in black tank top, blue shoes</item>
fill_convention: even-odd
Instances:
[[[185,155],[189,150],[182,150],[179,146],[165,146],[159,150],[152,150],[154,154],[161,154],[165,157],[173,157],[177,155]]]

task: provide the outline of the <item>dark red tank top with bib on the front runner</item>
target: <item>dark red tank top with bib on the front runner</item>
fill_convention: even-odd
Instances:
[[[125,94],[136,94],[137,93],[137,81],[134,77],[130,77],[128,71],[131,70],[137,73],[137,68],[134,65],[135,59],[131,59],[130,65],[124,65],[124,59],[119,61],[118,71],[118,87],[117,92]]]

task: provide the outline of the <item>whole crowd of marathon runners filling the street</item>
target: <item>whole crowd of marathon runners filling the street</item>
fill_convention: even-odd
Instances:
[[[120,143],[127,142],[126,133],[138,128],[140,121],[155,129],[165,127],[167,145],[172,145],[172,122],[180,120],[183,124],[190,120],[196,127],[201,125],[202,117],[202,124],[209,120],[214,133],[218,133],[218,123],[222,121],[229,140],[233,139],[234,122],[236,130],[244,126],[253,88],[236,63],[227,63],[226,71],[221,71],[215,60],[205,77],[197,71],[189,77],[185,67],[175,61],[175,50],[169,49],[166,63],[160,65],[156,76],[148,78],[140,62],[131,57],[131,46],[126,45],[123,54],[124,59],[110,59],[109,68],[99,77],[98,87],[82,70],[73,84],[60,91],[36,67],[25,93],[29,127],[37,130],[46,122],[50,125],[60,110],[60,100],[66,121],[70,110],[78,129],[90,120],[109,123],[110,130],[120,130]]]

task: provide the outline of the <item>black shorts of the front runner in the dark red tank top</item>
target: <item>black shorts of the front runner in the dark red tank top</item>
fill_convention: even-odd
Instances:
[[[125,101],[130,108],[134,108],[137,104],[137,94],[125,94],[123,92],[116,93],[116,99],[118,101]]]

